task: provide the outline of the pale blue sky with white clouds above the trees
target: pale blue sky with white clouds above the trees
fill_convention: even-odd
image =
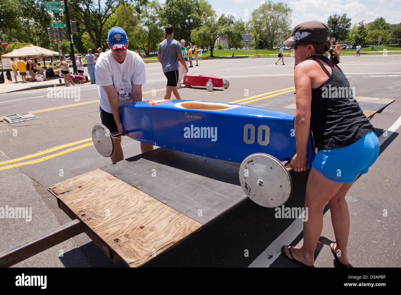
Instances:
[[[164,3],[164,0],[159,0]],[[233,14],[236,18],[248,20],[251,12],[265,1],[261,0],[209,0],[218,15]],[[293,28],[301,22],[318,20],[327,22],[327,18],[337,14],[347,14],[352,24],[365,20],[372,22],[383,16],[390,24],[401,22],[401,0],[273,0],[284,2],[292,9]]]

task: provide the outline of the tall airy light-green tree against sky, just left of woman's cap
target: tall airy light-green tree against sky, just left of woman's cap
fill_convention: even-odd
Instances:
[[[291,13],[288,4],[269,0],[252,11],[250,24],[273,47],[274,40],[290,29]]]

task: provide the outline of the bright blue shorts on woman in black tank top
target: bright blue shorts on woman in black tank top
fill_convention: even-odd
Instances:
[[[376,133],[371,131],[348,146],[318,151],[312,166],[328,179],[350,183],[368,172],[379,157],[379,147]]]

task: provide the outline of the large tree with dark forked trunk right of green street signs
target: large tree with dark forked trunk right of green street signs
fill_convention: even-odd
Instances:
[[[106,23],[119,6],[134,3],[139,12],[139,7],[145,2],[147,0],[106,0],[105,6],[101,7],[100,1],[95,4],[94,0],[70,0],[69,13],[71,19],[79,21],[81,29],[84,27],[97,48],[107,40],[111,27]]]

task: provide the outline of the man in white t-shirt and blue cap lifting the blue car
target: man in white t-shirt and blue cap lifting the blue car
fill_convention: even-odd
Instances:
[[[99,56],[95,75],[99,85],[101,122],[111,134],[123,132],[120,106],[142,101],[142,84],[146,83],[145,64],[141,57],[128,50],[126,32],[119,26],[110,29],[107,45],[111,49]],[[113,138],[113,163],[124,159],[121,137]],[[140,143],[142,153],[153,150],[153,145]]]

